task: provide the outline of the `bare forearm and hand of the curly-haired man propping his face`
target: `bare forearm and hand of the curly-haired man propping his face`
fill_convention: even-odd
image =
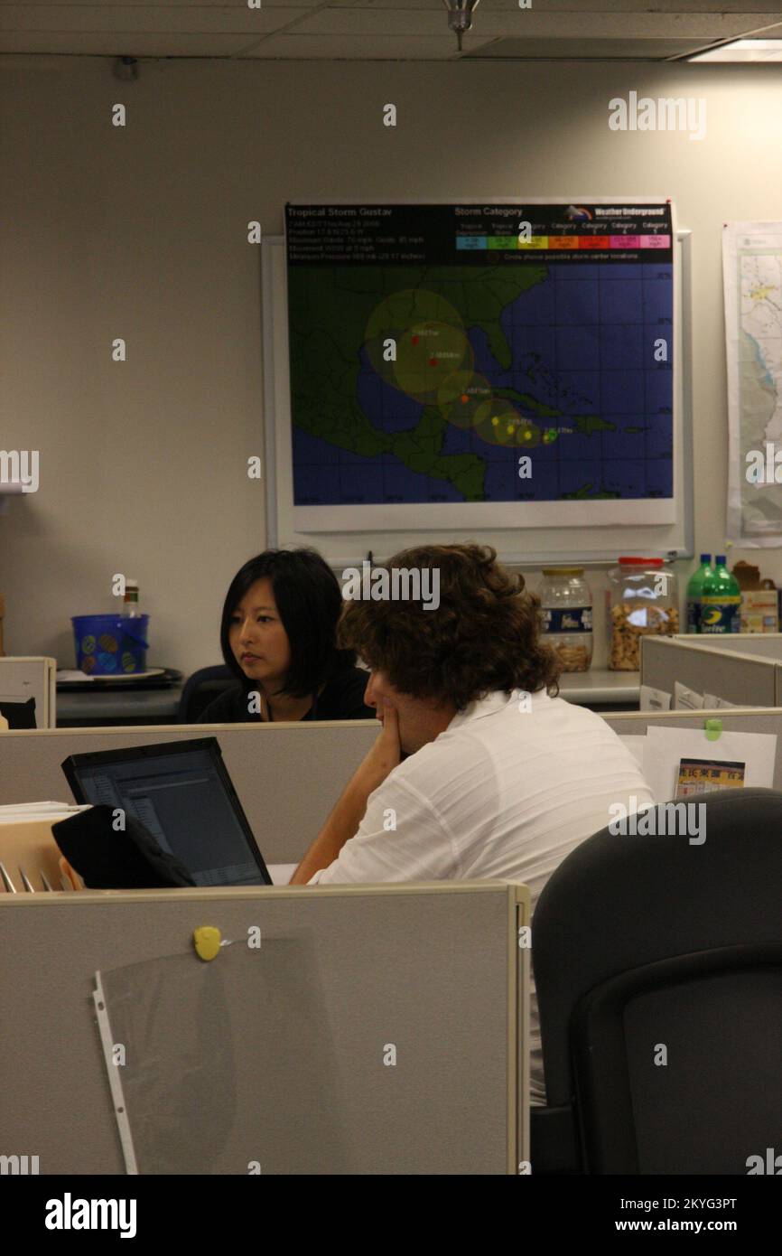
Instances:
[[[383,731],[372,750],[343,790],[313,845],[296,868],[289,884],[306,885],[309,880],[334,863],[345,842],[354,838],[364,819],[367,799],[382,785],[402,759],[397,712],[388,702],[383,711]]]

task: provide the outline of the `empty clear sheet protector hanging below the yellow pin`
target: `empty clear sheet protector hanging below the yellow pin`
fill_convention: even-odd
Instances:
[[[102,971],[105,1069],[128,1173],[354,1174],[340,1060],[316,938],[226,939],[210,963],[181,953]],[[114,1044],[126,1048],[118,1069]],[[117,1093],[117,1084],[113,1086]],[[304,1133],[303,1133],[304,1132]]]

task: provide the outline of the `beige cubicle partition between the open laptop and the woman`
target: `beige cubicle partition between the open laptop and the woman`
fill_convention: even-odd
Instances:
[[[0,805],[73,801],[60,767],[69,755],[217,737],[266,863],[299,863],[378,732],[369,720],[4,732]]]

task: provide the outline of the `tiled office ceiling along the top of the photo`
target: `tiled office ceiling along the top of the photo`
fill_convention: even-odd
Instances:
[[[748,35],[782,39],[782,0],[481,0],[462,53],[443,0],[0,0],[6,54],[660,62]]]

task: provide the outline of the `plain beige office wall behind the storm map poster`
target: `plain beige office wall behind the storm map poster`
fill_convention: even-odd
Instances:
[[[69,617],[114,609],[122,571],[153,617],[152,662],[218,661],[225,589],[265,543],[246,224],[281,232],[286,200],[674,197],[693,230],[695,545],[722,548],[722,226],[782,219],[778,67],[196,59],[142,62],[129,84],[110,68],[0,65],[0,447],[40,451],[40,490],[0,516],[9,653],[73,666]],[[705,138],[609,131],[630,89],[704,97]],[[781,551],[733,551],[758,554],[782,582]]]

